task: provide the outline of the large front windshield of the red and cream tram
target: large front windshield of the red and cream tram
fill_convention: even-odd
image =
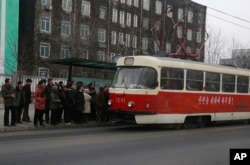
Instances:
[[[118,67],[112,83],[114,88],[154,89],[157,72],[150,67]]]

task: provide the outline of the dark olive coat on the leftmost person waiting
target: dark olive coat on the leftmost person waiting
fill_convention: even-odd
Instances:
[[[16,106],[16,99],[12,96],[15,94],[15,89],[12,86],[2,86],[2,96],[4,98],[4,106]]]

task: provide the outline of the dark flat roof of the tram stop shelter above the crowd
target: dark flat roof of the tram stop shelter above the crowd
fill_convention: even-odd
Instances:
[[[68,66],[77,66],[77,67],[87,67],[94,69],[107,69],[107,70],[116,70],[116,63],[104,62],[104,61],[94,61],[82,58],[66,58],[66,59],[54,59],[49,60],[52,64],[68,65]]]

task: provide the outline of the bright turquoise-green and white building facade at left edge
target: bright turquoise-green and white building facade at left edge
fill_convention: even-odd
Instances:
[[[0,0],[0,74],[17,71],[19,0]]]

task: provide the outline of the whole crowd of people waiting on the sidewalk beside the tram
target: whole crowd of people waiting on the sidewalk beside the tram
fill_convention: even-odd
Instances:
[[[62,81],[58,84],[52,78],[42,79],[36,85],[34,94],[31,93],[31,79],[26,84],[19,81],[16,88],[12,87],[10,79],[5,80],[2,86],[4,98],[4,126],[16,126],[22,122],[31,122],[29,105],[34,98],[35,127],[45,127],[46,124],[56,126],[64,122],[70,125],[96,121],[98,124],[109,121],[108,87],[95,90],[95,84],[89,83],[85,88],[82,82]],[[47,85],[46,85],[47,84]],[[9,122],[11,113],[11,122]],[[44,123],[45,122],[45,123]]]

